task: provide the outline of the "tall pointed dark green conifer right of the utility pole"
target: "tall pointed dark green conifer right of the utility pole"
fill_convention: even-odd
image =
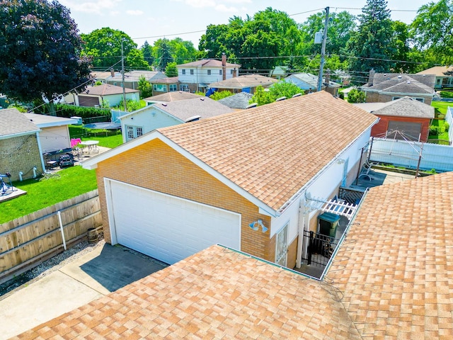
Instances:
[[[389,72],[394,66],[390,61],[394,47],[391,44],[393,30],[387,1],[367,0],[358,18],[359,26],[348,44],[351,68],[363,74],[370,69]]]

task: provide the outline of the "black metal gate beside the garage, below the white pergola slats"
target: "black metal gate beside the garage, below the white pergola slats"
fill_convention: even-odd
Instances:
[[[304,244],[306,251],[302,254],[302,261],[307,265],[326,266],[331,259],[340,240],[316,232],[304,230]]]

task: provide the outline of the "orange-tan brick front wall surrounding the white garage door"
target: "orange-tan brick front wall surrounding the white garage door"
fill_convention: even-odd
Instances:
[[[248,225],[270,217],[160,140],[152,140],[98,164],[98,191],[103,215],[104,237],[111,242],[103,178],[127,182],[161,193],[205,203],[241,214],[241,251],[275,261],[275,242],[270,246],[269,231],[254,231]],[[144,207],[146,208],[146,207]],[[269,228],[270,229],[270,228]],[[272,250],[271,250],[272,249]]]

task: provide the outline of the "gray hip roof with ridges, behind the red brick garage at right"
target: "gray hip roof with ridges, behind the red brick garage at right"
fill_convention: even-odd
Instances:
[[[374,74],[371,85],[365,84],[361,87],[365,91],[432,96],[434,83],[434,75],[377,73]]]

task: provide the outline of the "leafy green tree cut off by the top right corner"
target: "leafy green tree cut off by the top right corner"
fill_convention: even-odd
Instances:
[[[453,1],[430,2],[418,9],[411,31],[415,46],[431,50],[437,55],[437,63],[453,64]]]

